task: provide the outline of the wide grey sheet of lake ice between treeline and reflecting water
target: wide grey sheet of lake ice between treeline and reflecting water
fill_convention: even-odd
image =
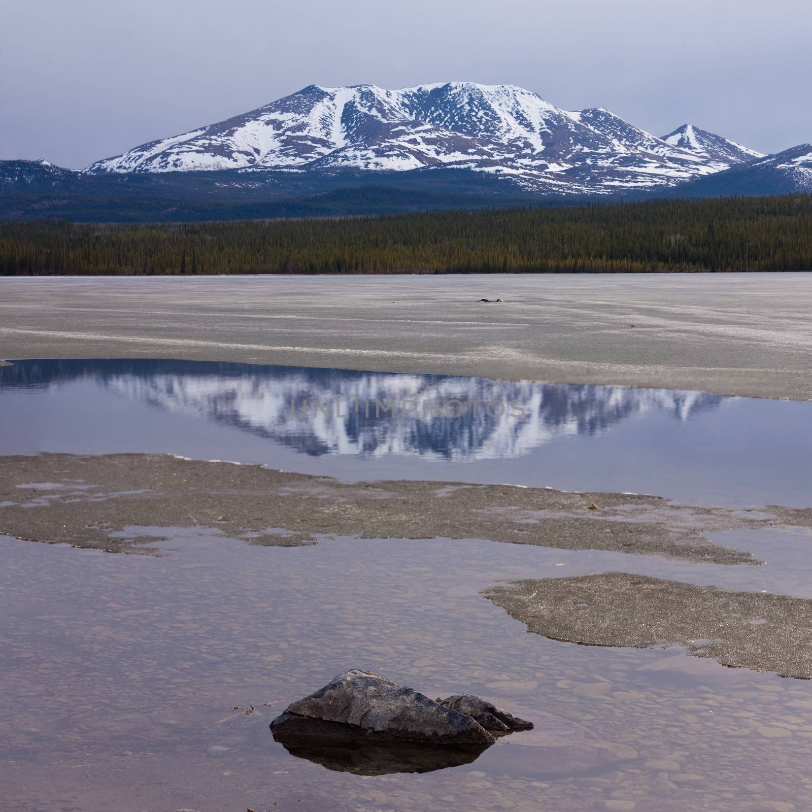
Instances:
[[[810,312],[808,272],[18,277],[0,278],[0,356],[246,361],[812,400]]]

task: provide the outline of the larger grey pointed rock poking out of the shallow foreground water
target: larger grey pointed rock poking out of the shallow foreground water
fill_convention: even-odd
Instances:
[[[293,702],[270,728],[274,738],[425,741],[434,745],[490,745],[496,741],[470,716],[358,669],[339,674],[309,697]]]

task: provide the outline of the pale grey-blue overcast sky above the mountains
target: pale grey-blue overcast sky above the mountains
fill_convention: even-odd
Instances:
[[[812,141],[810,0],[0,0],[0,158],[87,166],[308,84],[520,84],[655,135]]]

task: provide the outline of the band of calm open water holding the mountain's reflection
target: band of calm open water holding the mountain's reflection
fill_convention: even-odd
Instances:
[[[16,361],[0,368],[0,421],[2,454],[171,452],[351,481],[797,507],[810,503],[812,482],[812,404],[692,391],[205,361]]]

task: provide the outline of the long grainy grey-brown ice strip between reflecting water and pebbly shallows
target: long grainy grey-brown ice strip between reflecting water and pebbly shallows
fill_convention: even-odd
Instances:
[[[752,566],[762,562],[705,533],[812,528],[812,508],[706,508],[659,496],[460,482],[350,483],[166,454],[0,457],[4,535],[141,552],[178,527],[266,546],[336,536],[481,538]]]

